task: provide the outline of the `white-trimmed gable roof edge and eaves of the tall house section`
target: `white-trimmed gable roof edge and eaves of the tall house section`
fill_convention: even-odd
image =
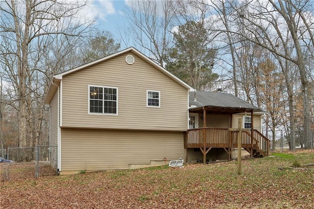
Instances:
[[[136,54],[137,56],[141,57],[143,60],[145,60],[146,62],[148,62],[150,65],[152,65],[153,67],[155,67],[157,70],[159,70],[160,72],[164,73],[165,75],[167,75],[169,78],[172,78],[173,80],[175,80],[176,82],[178,82],[179,84],[181,84],[183,87],[185,87],[186,89],[190,90],[190,91],[194,91],[194,89],[189,86],[188,84],[186,84],[183,80],[181,80],[180,78],[176,77],[175,75],[173,75],[172,73],[170,73],[169,71],[167,71],[166,69],[164,69],[162,66],[160,66],[159,64],[157,64],[156,62],[154,62],[152,59],[150,59],[148,56],[146,56],[145,54],[143,54],[142,52],[139,52],[138,50],[136,50],[133,47],[130,47],[128,49],[122,50],[120,52],[116,52],[113,54],[110,54],[108,56],[105,56],[101,59],[89,62],[87,64],[81,65],[79,67],[73,68],[71,70],[65,71],[63,73],[54,75],[52,77],[51,83],[49,85],[47,94],[45,96],[44,102],[45,104],[49,104],[52,100],[52,97],[55,93],[55,91],[57,90],[57,85],[59,85],[60,81],[62,80],[63,76],[69,75],[71,73],[75,73],[76,71],[85,69],[89,66],[95,65],[97,63],[103,62],[105,60],[108,60],[110,58],[119,56],[123,53],[127,53],[127,52],[132,52],[134,54]]]

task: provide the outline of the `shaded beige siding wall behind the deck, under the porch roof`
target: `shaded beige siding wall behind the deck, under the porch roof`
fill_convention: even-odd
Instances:
[[[203,114],[199,114],[198,116],[199,128],[203,127],[202,117],[203,117]],[[228,129],[230,128],[230,115],[207,114],[206,115],[206,127]]]

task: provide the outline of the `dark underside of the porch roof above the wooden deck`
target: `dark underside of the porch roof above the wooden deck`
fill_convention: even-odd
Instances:
[[[248,109],[248,108],[241,108],[241,107],[217,107],[217,106],[202,106],[202,107],[195,107],[189,109],[189,112],[194,113],[203,113],[204,109],[206,109],[207,114],[226,114],[232,115],[241,112],[251,112],[252,110],[255,112],[260,112],[259,109]]]

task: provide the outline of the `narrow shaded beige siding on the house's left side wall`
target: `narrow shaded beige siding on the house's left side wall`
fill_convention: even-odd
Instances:
[[[56,91],[52,101],[50,103],[50,111],[51,111],[51,141],[50,145],[51,146],[57,146],[58,143],[58,92]],[[56,160],[57,160],[57,152],[53,152],[52,156],[52,165],[56,165]]]

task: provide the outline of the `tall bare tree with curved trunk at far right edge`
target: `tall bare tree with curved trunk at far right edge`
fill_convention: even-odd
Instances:
[[[307,132],[307,148],[309,148],[310,137],[310,108],[308,99],[309,80],[305,61],[307,55],[306,48],[313,48],[312,29],[307,21],[302,18],[310,6],[310,1],[290,1],[285,2],[272,1],[248,1],[240,6],[236,6],[236,19],[247,31],[241,34],[238,31],[232,31],[241,35],[243,40],[251,41],[266,50],[272,52],[275,56],[281,57],[297,66],[300,75],[300,84],[302,87],[302,97],[304,105],[304,129]],[[308,25],[308,26],[307,26]],[[287,40],[289,45],[287,44]],[[280,48],[279,46],[291,47]],[[286,65],[288,66],[288,65]],[[288,86],[288,85],[287,85]],[[291,95],[290,95],[291,96]],[[291,104],[293,105],[293,104]],[[289,106],[290,109],[293,106]],[[293,121],[291,121],[291,126]],[[292,127],[291,127],[292,129]]]

